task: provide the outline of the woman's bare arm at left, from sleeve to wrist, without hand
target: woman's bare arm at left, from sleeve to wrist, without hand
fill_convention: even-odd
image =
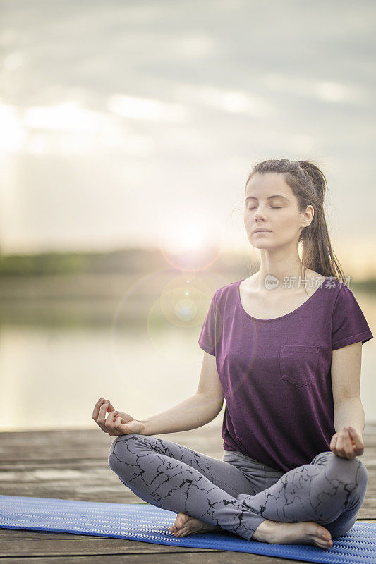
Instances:
[[[196,393],[167,411],[140,420],[145,426],[142,435],[176,433],[202,427],[217,417],[223,402],[215,357],[205,351]]]

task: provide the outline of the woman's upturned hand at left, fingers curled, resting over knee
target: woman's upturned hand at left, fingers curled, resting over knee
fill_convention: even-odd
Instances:
[[[109,415],[106,419],[107,412]],[[92,419],[99,425],[104,433],[110,436],[128,435],[135,433],[142,435],[145,425],[123,411],[117,411],[109,400],[100,398],[94,406]]]

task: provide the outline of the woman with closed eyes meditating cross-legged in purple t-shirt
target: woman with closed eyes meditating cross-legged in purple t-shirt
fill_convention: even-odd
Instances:
[[[356,522],[368,484],[356,458],[364,450],[361,348],[372,333],[338,280],[326,185],[308,161],[257,164],[244,222],[260,269],[214,293],[197,393],[142,421],[109,400],[95,405],[99,427],[119,435],[109,467],[147,503],[178,513],[177,537],[226,529],[327,549]],[[224,399],[222,460],[152,436],[207,424]]]

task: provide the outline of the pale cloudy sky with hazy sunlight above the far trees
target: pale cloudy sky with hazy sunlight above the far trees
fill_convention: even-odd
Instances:
[[[372,1],[0,0],[2,252],[249,247],[262,159],[312,160],[375,274]]]

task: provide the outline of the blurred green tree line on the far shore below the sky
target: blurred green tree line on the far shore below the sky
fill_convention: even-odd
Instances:
[[[213,259],[215,257],[214,262]],[[202,251],[188,252],[186,255],[169,257],[169,262],[159,248],[145,249],[128,247],[125,249],[106,252],[42,252],[35,254],[0,254],[0,281],[8,278],[9,283],[17,279],[30,283],[33,277],[68,277],[68,276],[123,276],[130,280],[150,276],[156,272],[171,271],[171,274],[181,274],[179,264],[197,264],[198,276],[205,278],[212,274],[219,275],[231,281],[239,280],[257,271],[259,264],[247,254],[220,251],[205,248]],[[176,268],[174,265],[176,264]],[[205,268],[210,264],[210,268]],[[201,268],[203,267],[203,268]],[[350,276],[349,288],[376,292],[376,276],[368,278],[354,278],[345,269],[346,276]],[[41,278],[40,278],[41,279]],[[99,280],[99,278],[98,278]],[[17,283],[17,282],[16,282]]]

